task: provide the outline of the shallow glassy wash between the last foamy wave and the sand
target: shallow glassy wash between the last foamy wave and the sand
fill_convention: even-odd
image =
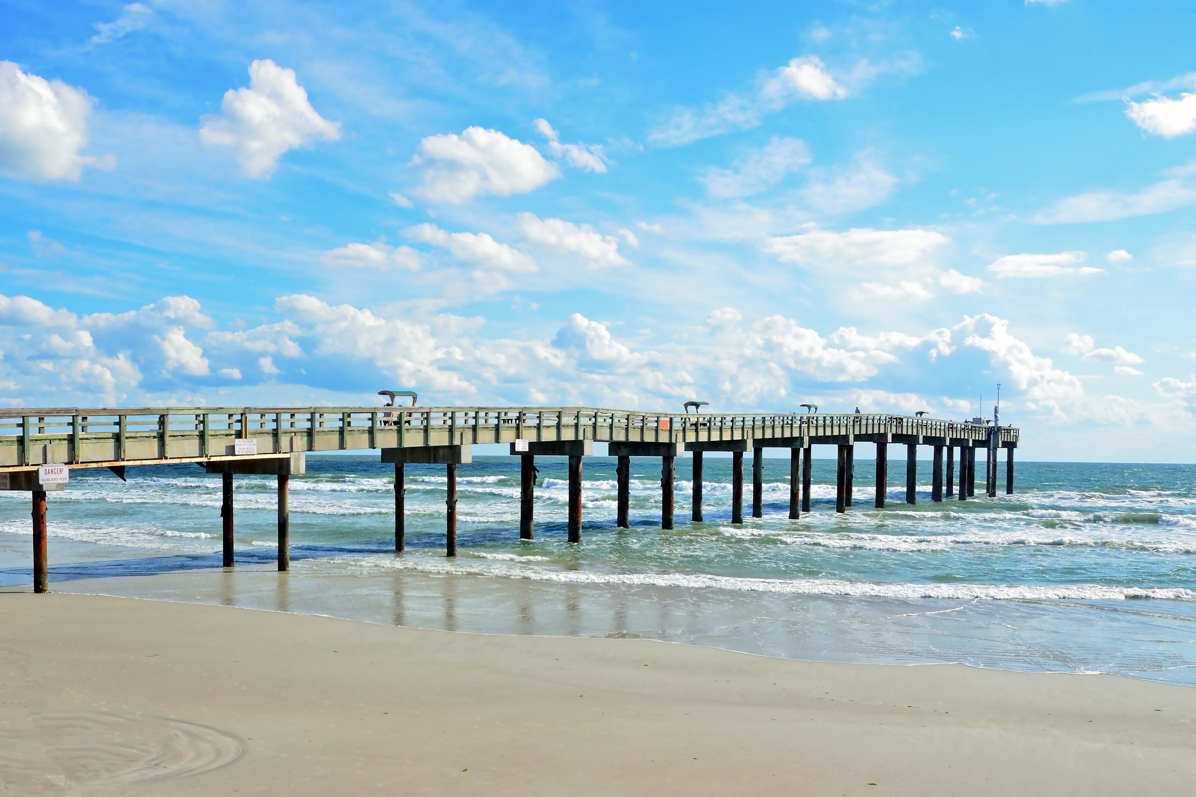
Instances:
[[[8,587],[2,591],[23,591]],[[547,638],[641,638],[777,660],[960,663],[999,672],[1104,673],[1196,686],[1196,607],[1167,601],[1035,602],[740,593],[541,582],[410,570],[267,564],[53,581],[65,594],[144,597],[360,620],[383,627]],[[1086,633],[1078,633],[1085,627]],[[1110,639],[1121,639],[1112,645]],[[1165,642],[1167,640],[1167,642]],[[1110,655],[1116,650],[1116,656]]]

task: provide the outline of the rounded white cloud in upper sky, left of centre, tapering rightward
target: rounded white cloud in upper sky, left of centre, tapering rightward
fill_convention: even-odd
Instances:
[[[423,197],[450,204],[480,194],[527,194],[561,177],[536,147],[480,127],[423,139],[411,164],[425,167]]]

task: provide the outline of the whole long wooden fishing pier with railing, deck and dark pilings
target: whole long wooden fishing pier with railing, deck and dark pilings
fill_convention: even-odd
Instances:
[[[519,537],[532,539],[536,456],[568,456],[568,541],[581,542],[582,461],[596,442],[618,458],[616,525],[629,528],[630,458],[660,458],[661,528],[673,527],[678,456],[694,458],[691,520],[702,520],[702,455],[732,456],[731,522],[743,523],[744,454],[752,452],[752,517],[763,516],[765,448],[789,449],[789,519],[810,511],[814,446],[837,450],[836,511],[852,507],[855,443],[875,443],[875,505],[885,505],[889,446],[905,446],[905,502],[917,495],[917,448],[933,448],[932,501],[976,495],[976,453],[984,452],[984,492],[996,496],[997,454],[1006,450],[1005,491],[1013,492],[1018,429],[901,415],[660,413],[591,407],[142,407],[0,410],[0,490],[32,493],[33,589],[48,589],[47,495],[69,473],[109,468],[122,479],[140,465],[193,462],[222,474],[224,566],[233,565],[233,477],[276,476],[279,570],[289,568],[289,477],[305,472],[307,452],[382,449],[395,465],[395,550],[404,548],[403,466],[444,465],[445,547],[457,553],[457,466],[472,446],[506,443],[520,458]],[[958,490],[956,452],[958,450]]]

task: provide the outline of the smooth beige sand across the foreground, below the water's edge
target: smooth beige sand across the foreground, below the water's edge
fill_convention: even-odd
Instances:
[[[0,594],[5,793],[1192,795],[1196,689]]]

